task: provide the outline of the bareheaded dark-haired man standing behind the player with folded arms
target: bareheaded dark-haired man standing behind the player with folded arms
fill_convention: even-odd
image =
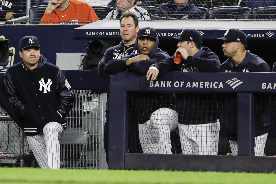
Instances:
[[[124,13],[120,17],[120,35],[122,41],[119,45],[108,48],[104,57],[99,62],[98,72],[101,77],[110,78],[110,74],[104,71],[106,64],[112,59],[121,59],[127,55],[137,53],[135,41],[139,31],[139,19],[132,13]],[[109,92],[106,101],[106,122],[104,124],[104,150],[106,152],[106,162],[108,163],[108,127],[109,127]]]

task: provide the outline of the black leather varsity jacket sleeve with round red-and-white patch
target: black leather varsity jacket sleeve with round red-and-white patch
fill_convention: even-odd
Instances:
[[[59,96],[59,105],[56,110],[61,115],[61,118],[64,118],[73,108],[74,96],[70,84],[60,69],[57,73],[57,94]]]

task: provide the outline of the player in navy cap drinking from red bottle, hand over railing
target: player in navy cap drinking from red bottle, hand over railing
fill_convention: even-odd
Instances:
[[[195,29],[184,29],[175,55],[150,66],[147,80],[156,80],[168,71],[217,72],[218,56],[208,47],[201,47],[202,36]],[[179,64],[174,63],[177,53],[182,55]],[[220,124],[216,115],[216,96],[200,94],[176,94],[178,128],[183,154],[216,155]],[[196,105],[195,105],[196,104]],[[205,104],[208,104],[206,106]]]

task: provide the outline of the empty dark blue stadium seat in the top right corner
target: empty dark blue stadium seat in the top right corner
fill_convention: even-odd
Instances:
[[[259,7],[253,9],[254,19],[276,19],[276,6]]]

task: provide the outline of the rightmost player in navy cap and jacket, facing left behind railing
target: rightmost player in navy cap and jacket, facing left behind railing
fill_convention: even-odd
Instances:
[[[241,30],[229,29],[225,32],[224,37],[218,39],[224,41],[222,50],[224,55],[229,57],[221,64],[219,68],[220,72],[270,72],[270,67],[264,60],[246,50],[247,37]],[[255,156],[263,156],[268,127],[271,124],[269,112],[271,108],[266,106],[269,104],[268,102],[271,97],[269,95],[258,94],[255,97]],[[229,108],[226,112],[223,112],[221,124],[227,131],[227,138],[229,139],[232,154],[237,155],[237,111],[235,108],[237,99],[226,98],[222,97],[222,101]],[[227,117],[230,122],[227,122],[227,119],[225,119]]]

